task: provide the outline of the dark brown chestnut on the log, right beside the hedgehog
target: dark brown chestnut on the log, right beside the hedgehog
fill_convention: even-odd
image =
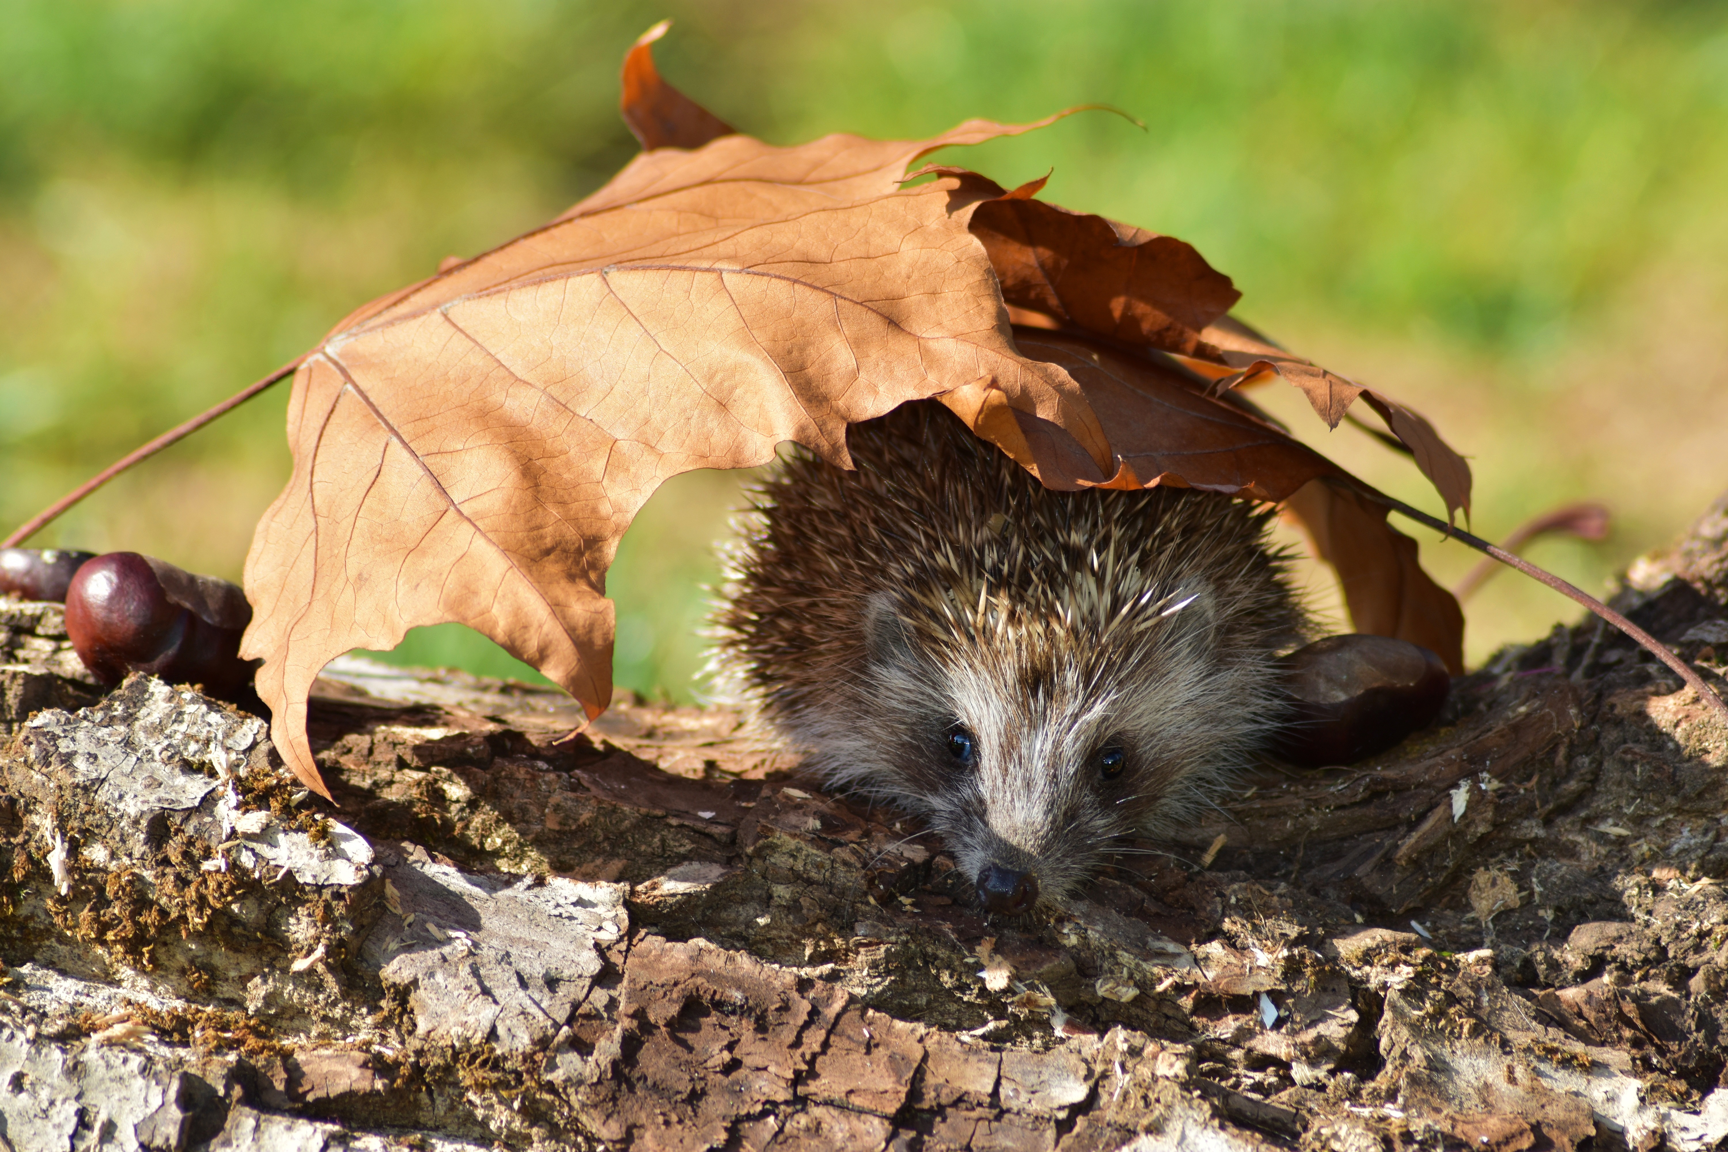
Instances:
[[[1274,750],[1303,767],[1391,748],[1433,720],[1452,687],[1439,656],[1388,636],[1329,636],[1282,665],[1291,712]]]

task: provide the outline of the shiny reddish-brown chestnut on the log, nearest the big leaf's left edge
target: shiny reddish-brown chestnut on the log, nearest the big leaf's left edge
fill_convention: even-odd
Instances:
[[[233,699],[251,689],[257,667],[238,655],[251,620],[237,585],[138,553],[97,556],[66,592],[66,634],[107,684],[150,672]]]

